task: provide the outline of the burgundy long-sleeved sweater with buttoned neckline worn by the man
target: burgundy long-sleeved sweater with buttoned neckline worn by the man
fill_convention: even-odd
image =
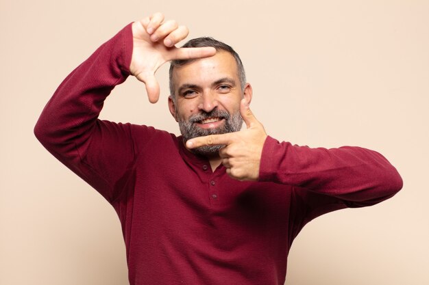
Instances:
[[[35,128],[43,146],[114,207],[130,284],[283,284],[292,241],[311,219],[369,206],[402,188],[378,152],[268,137],[258,182],[212,172],[182,138],[99,120],[130,74],[128,25],[62,82]]]

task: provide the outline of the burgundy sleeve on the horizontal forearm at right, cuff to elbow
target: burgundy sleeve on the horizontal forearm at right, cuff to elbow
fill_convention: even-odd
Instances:
[[[315,193],[320,204],[348,207],[377,204],[402,188],[395,167],[373,150],[350,146],[308,148],[280,143],[272,137],[267,137],[262,150],[259,179],[292,185],[296,191],[305,189],[301,199],[308,200],[309,193]],[[311,203],[312,208],[323,208],[314,199]],[[320,210],[319,214],[327,211]]]

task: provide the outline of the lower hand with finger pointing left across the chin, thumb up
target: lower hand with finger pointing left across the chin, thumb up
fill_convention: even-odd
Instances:
[[[247,128],[235,133],[195,137],[186,141],[187,148],[200,146],[224,145],[219,150],[219,157],[226,167],[226,172],[237,180],[258,180],[260,157],[267,138],[264,126],[256,120],[249,103],[241,100],[240,113]]]

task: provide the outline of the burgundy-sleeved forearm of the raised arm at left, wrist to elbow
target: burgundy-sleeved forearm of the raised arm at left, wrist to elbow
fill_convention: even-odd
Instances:
[[[129,74],[132,31],[125,27],[61,83],[34,128],[54,154],[75,155],[93,133],[103,101]]]

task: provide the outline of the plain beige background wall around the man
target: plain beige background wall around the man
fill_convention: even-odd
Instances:
[[[122,3],[122,4],[120,4]],[[127,284],[119,220],[32,128],[62,79],[127,23],[162,11],[241,54],[267,132],[382,152],[404,189],[312,221],[286,284],[429,284],[429,1],[0,0],[0,284]],[[130,78],[102,118],[177,133]]]

